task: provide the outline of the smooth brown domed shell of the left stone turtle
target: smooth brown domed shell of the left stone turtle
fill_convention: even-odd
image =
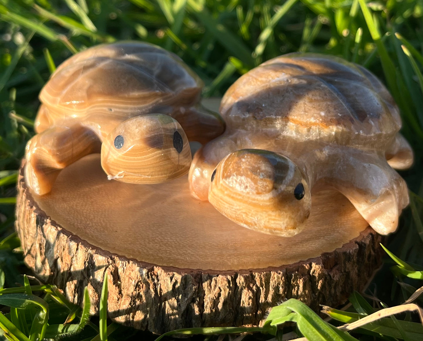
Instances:
[[[58,119],[122,120],[199,102],[203,82],[173,53],[152,44],[119,42],[79,52],[63,62],[40,93],[40,114]],[[163,108],[165,108],[163,110]]]

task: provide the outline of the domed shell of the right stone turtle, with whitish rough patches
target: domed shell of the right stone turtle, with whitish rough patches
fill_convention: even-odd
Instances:
[[[270,129],[297,140],[383,146],[401,128],[385,86],[360,65],[291,53],[262,63],[225,93],[229,129]]]

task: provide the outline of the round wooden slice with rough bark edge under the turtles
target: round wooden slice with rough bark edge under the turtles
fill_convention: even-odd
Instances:
[[[16,228],[25,263],[71,302],[82,303],[88,286],[96,313],[107,272],[109,316],[164,333],[258,325],[290,297],[318,310],[362,289],[380,265],[381,236],[338,192],[316,193],[312,205],[297,236],[261,234],[190,197],[186,177],[109,181],[94,154],[63,170],[42,197],[21,172]]]

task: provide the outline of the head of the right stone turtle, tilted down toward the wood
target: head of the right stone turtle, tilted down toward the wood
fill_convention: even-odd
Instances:
[[[235,151],[219,162],[210,181],[210,203],[253,230],[293,236],[310,214],[305,176],[294,162],[274,152]]]

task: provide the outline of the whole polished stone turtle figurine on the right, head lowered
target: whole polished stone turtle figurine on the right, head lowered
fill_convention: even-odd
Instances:
[[[410,167],[413,153],[398,133],[392,96],[362,66],[283,55],[240,77],[220,113],[225,133],[190,168],[196,198],[244,227],[293,236],[310,214],[311,193],[332,188],[380,234],[396,230],[409,197],[393,168]]]

